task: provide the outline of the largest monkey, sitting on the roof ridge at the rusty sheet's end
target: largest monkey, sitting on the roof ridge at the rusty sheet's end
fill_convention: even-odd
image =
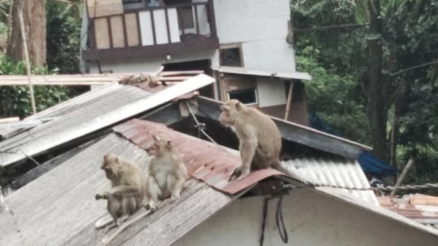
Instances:
[[[281,134],[268,115],[246,107],[239,100],[229,100],[220,107],[219,121],[231,128],[239,138],[242,165],[230,176],[244,178],[251,170],[272,167],[280,172],[287,170],[280,166]]]

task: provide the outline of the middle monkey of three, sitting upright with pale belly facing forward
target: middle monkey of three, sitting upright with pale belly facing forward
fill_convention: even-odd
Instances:
[[[164,137],[153,135],[153,143],[146,151],[152,156],[148,178],[150,207],[156,210],[164,199],[179,199],[188,179],[187,168],[181,161],[181,154]]]

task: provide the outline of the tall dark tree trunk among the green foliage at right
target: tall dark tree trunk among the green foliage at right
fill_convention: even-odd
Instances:
[[[383,78],[383,49],[381,21],[381,3],[368,1],[370,11],[370,35],[368,36],[369,64],[368,72],[362,81],[365,106],[372,130],[373,152],[383,161],[389,160],[387,145],[388,80]]]

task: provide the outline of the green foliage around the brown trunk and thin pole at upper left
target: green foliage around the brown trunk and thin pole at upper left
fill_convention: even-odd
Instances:
[[[3,2],[0,7],[7,10],[9,5]],[[68,74],[79,72],[80,23],[77,5],[59,1],[47,1],[47,65],[32,66],[32,74]],[[8,11],[6,11],[8,12]],[[0,42],[8,37],[8,20],[0,18]],[[5,55],[0,56],[0,74],[26,74],[23,61],[15,61]],[[36,109],[41,111],[56,105],[80,92],[81,88],[63,86],[34,86]],[[0,118],[19,116],[24,118],[31,113],[29,88],[27,86],[0,87]]]

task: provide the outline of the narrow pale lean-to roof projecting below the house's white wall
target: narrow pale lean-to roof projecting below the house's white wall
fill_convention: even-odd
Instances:
[[[262,71],[247,69],[242,67],[220,66],[211,67],[211,69],[218,72],[228,72],[232,74],[246,74],[246,75],[258,75],[265,77],[276,77],[281,79],[302,79],[310,80],[312,77],[307,72],[275,72],[275,71]]]

